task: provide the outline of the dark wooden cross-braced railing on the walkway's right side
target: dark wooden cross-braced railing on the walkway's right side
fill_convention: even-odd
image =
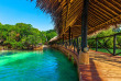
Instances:
[[[110,35],[110,36],[103,36],[103,37],[96,37],[96,38],[89,38],[88,40],[90,40],[90,39],[94,39],[95,42],[94,43],[96,43],[96,51],[98,51],[98,44],[100,45],[100,46],[102,46],[102,48],[105,48],[105,49],[107,49],[110,54],[112,54],[113,56],[116,56],[116,55],[119,55],[119,54],[121,54],[121,53],[116,53],[116,50],[117,50],[117,46],[120,46],[121,47],[121,43],[120,44],[117,44],[117,36],[118,35],[121,35],[121,33],[117,33],[117,34],[113,34],[113,35]],[[108,38],[108,37],[113,37],[113,53],[111,53],[109,49],[108,49],[108,47],[106,47],[106,46],[103,46],[102,45],[102,43],[100,43],[99,40],[100,39],[105,39],[105,38]],[[121,40],[121,39],[120,39]],[[105,40],[103,40],[105,42]],[[105,44],[108,42],[108,39],[105,42]]]

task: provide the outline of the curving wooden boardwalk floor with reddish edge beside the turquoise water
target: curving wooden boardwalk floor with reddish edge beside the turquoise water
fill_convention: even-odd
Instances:
[[[80,81],[121,81],[121,57],[89,50],[90,65],[79,65],[77,53],[62,46],[56,48],[75,58]]]

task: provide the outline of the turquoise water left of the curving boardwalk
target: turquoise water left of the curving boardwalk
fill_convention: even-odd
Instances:
[[[78,74],[58,50],[12,50],[0,51],[0,81],[78,81]]]

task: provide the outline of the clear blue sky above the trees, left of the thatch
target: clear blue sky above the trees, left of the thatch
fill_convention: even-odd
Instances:
[[[53,30],[50,14],[35,8],[31,0],[0,0],[0,22],[2,24],[26,23],[40,31]]]

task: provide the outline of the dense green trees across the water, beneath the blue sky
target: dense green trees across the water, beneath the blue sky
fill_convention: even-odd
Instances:
[[[0,46],[8,49],[32,49],[38,43],[45,44],[56,35],[54,30],[41,32],[31,24],[3,25],[0,23]]]

